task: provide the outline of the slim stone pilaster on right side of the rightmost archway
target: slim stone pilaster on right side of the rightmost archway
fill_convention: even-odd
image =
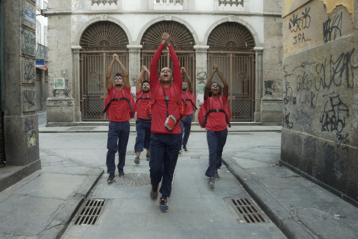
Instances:
[[[262,51],[263,47],[254,47],[255,51],[255,113],[253,114],[253,121],[261,121],[261,97],[262,97]]]

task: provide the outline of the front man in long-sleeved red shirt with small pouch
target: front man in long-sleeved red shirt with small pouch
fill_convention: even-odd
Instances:
[[[170,52],[173,72],[168,67],[164,67],[160,71],[158,81],[158,61],[165,44]],[[151,199],[158,197],[158,187],[162,181],[159,190],[162,194],[159,200],[160,211],[167,212],[169,211],[167,197],[171,193],[176,161],[182,143],[178,104],[181,103],[182,98],[182,74],[168,33],[163,33],[161,36],[161,44],[150,63],[150,91],[151,100],[155,100],[155,103],[152,109],[152,134],[150,137],[149,171],[152,186],[149,195]],[[173,122],[176,123],[173,124]]]

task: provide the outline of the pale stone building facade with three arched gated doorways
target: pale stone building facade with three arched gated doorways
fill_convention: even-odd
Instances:
[[[119,55],[135,86],[165,31],[195,97],[217,64],[233,121],[282,120],[281,0],[49,0],[48,7],[48,125],[107,120],[110,57]],[[170,67],[166,51],[161,59],[159,67]]]

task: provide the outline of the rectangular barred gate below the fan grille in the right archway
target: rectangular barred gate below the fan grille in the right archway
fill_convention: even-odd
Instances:
[[[254,112],[254,54],[239,53],[208,53],[208,72],[212,72],[213,64],[218,65],[219,71],[229,85],[228,104],[232,112],[232,121],[252,121]],[[216,74],[213,81],[223,86]]]

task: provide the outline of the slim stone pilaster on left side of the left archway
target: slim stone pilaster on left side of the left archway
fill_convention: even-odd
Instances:
[[[80,52],[81,46],[72,46],[73,52],[73,90],[74,90],[74,120],[76,122],[82,121],[82,112],[81,112],[81,99],[82,99],[82,90],[81,90],[81,75],[80,75]]]

